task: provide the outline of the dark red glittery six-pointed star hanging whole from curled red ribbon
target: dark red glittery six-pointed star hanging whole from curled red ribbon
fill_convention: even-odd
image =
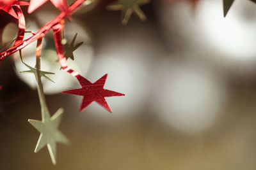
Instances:
[[[95,83],[91,83],[83,76],[78,75],[77,80],[79,81],[80,85],[82,86],[81,89],[72,89],[64,91],[63,93],[67,94],[76,94],[79,96],[84,96],[83,101],[80,106],[80,111],[84,110],[89,104],[93,101],[96,101],[100,104],[103,108],[106,108],[109,112],[112,112],[111,108],[109,107],[105,97],[112,97],[112,96],[125,96],[122,93],[114,92],[111,90],[103,89],[108,74],[105,74],[99,80],[95,81]]]

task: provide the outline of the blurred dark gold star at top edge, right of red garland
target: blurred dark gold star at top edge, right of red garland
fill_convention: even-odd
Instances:
[[[141,20],[147,19],[140,6],[149,2],[150,0],[118,0],[116,3],[109,4],[107,9],[112,11],[122,10],[122,24],[126,25],[133,11]]]

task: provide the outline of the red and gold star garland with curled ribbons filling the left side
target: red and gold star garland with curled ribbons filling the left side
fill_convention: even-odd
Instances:
[[[95,83],[90,83],[90,81],[86,80],[86,78],[83,78],[76,71],[70,69],[70,67],[68,67],[67,65],[67,59],[70,58],[74,60],[73,52],[77,48],[79,48],[79,46],[81,46],[83,42],[77,43],[75,45],[75,41],[77,37],[77,34],[76,34],[72,39],[71,43],[70,44],[67,43],[67,40],[64,39],[65,18],[68,18],[70,20],[70,15],[72,15],[72,13],[74,13],[74,11],[77,10],[77,8],[79,8],[79,6],[81,6],[82,4],[86,6],[92,3],[92,1],[88,1],[88,3],[84,3],[85,0],[76,0],[73,4],[67,7],[67,2],[65,0],[51,0],[54,6],[56,6],[61,10],[60,15],[58,15],[56,18],[51,20],[51,22],[48,22],[43,27],[41,27],[38,32],[26,31],[26,22],[25,22],[25,18],[22,13],[22,10],[20,8],[20,5],[29,4],[28,13],[32,13],[33,11],[36,10],[36,8],[42,6],[42,4],[44,4],[46,1],[47,0],[42,0],[42,1],[31,0],[30,3],[26,3],[23,1],[13,0],[8,2],[6,0],[0,0],[0,8],[6,11],[7,13],[9,13],[10,15],[12,15],[13,17],[18,18],[19,20],[19,32],[18,32],[17,38],[15,38],[15,43],[11,48],[8,48],[7,50],[2,49],[2,52],[0,53],[0,61],[3,60],[8,55],[11,55],[19,51],[21,62],[29,69],[27,71],[20,71],[20,72],[32,73],[35,75],[37,90],[38,90],[38,97],[39,97],[41,113],[42,113],[42,121],[31,120],[31,119],[28,120],[29,123],[33,125],[40,132],[40,137],[38,139],[35,152],[38,152],[41,148],[43,148],[44,146],[47,146],[49,153],[51,155],[52,163],[56,164],[56,143],[57,142],[68,143],[68,139],[65,138],[65,136],[58,130],[58,125],[60,124],[63,109],[60,108],[51,117],[45,101],[44,89],[42,86],[41,77],[44,77],[47,80],[54,82],[53,80],[51,80],[51,78],[47,76],[47,74],[54,74],[54,73],[51,73],[48,71],[42,71],[40,69],[42,39],[44,38],[45,34],[47,34],[47,32],[49,32],[50,30],[53,31],[56,52],[58,54],[58,61],[60,63],[61,68],[67,73],[70,73],[72,76],[76,77],[79,83],[81,83],[82,89],[74,89],[74,90],[66,91],[67,93],[70,93],[70,94],[79,94],[84,96],[83,103],[80,109],[81,111],[93,101],[96,101],[97,103],[102,105],[104,108],[106,108],[108,111],[112,111],[104,97],[124,96],[124,94],[103,89],[107,74],[102,78],[100,78]],[[13,8],[16,8],[16,9],[13,10]],[[3,29],[1,28],[1,30]],[[28,39],[23,39],[25,32],[31,33],[32,36]],[[35,67],[29,66],[22,59],[22,48],[25,48],[27,45],[29,45],[33,41],[37,41]],[[65,50],[66,50],[65,53],[63,51],[63,46],[65,47]]]

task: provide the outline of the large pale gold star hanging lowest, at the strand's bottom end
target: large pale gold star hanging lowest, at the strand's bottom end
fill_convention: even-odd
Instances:
[[[68,139],[58,130],[61,122],[63,109],[60,108],[52,117],[47,108],[42,110],[42,121],[31,120],[28,122],[40,132],[38,142],[36,144],[35,153],[47,146],[52,164],[56,164],[56,143],[68,144]]]

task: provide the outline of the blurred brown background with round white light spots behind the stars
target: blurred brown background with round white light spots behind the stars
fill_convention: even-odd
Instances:
[[[65,109],[60,129],[71,144],[58,144],[56,166],[46,147],[33,152],[39,132],[28,118],[41,120],[40,103],[15,53],[0,66],[0,169],[256,169],[256,4],[237,0],[223,18],[221,0],[195,8],[152,0],[141,6],[147,21],[132,15],[124,26],[120,11],[106,10],[110,2],[94,1],[67,21],[67,40],[77,32],[84,41],[68,64],[92,82],[108,73],[105,89],[126,96],[107,98],[113,113],[97,103],[79,113],[83,97],[61,91],[80,86],[60,70],[49,32],[42,69],[56,83],[43,79],[44,89],[52,114]],[[58,13],[51,2],[26,13],[27,30]],[[2,44],[15,34],[17,24],[8,24]],[[34,66],[35,43],[22,53]]]

